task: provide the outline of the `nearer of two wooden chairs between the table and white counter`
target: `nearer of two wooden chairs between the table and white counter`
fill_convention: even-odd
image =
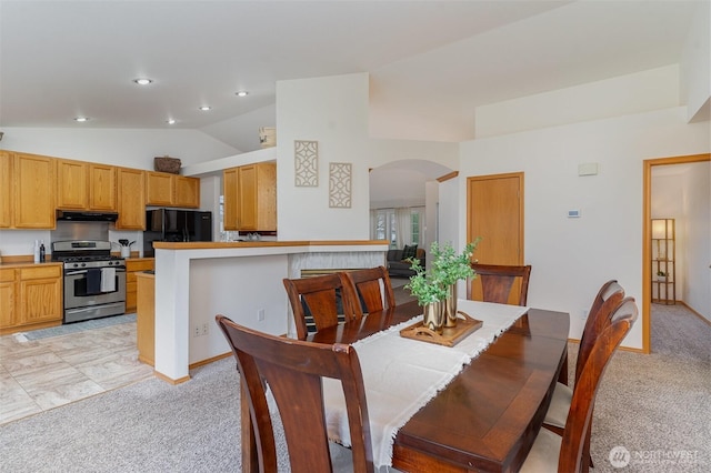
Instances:
[[[284,279],[283,283],[299,340],[306,340],[309,332],[362,316],[362,311],[353,309],[353,286],[342,272]]]

